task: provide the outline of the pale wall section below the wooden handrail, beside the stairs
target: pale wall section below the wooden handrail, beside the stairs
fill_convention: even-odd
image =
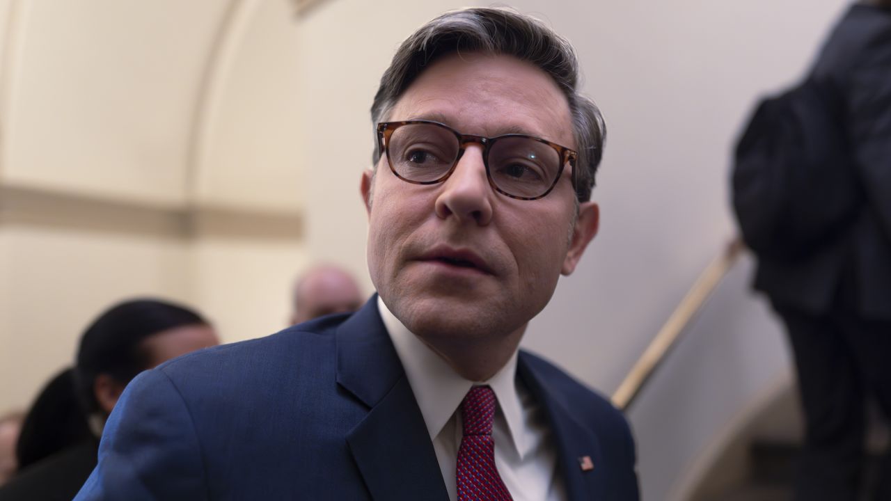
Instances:
[[[789,349],[745,255],[629,409],[644,499],[686,501],[708,468],[789,386]]]

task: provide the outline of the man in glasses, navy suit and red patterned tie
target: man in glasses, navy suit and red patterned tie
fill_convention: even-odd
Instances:
[[[576,84],[568,42],[511,10],[405,40],[361,184],[378,294],[136,378],[78,499],[638,499],[624,417],[519,350],[597,230]]]

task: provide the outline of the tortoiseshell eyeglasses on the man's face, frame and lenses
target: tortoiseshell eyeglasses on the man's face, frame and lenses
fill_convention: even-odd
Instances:
[[[448,179],[470,143],[482,145],[486,177],[498,193],[519,200],[540,199],[551,193],[567,163],[576,186],[576,152],[540,137],[473,136],[429,120],[378,124],[379,152],[387,154],[396,177],[415,185]]]

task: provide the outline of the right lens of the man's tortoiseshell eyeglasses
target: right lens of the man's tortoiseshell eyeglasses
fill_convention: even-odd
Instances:
[[[505,193],[535,198],[560,174],[560,154],[527,137],[502,137],[489,150],[489,175]]]

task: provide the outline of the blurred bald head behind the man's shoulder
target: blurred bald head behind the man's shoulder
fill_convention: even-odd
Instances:
[[[364,297],[353,275],[331,265],[314,267],[301,275],[294,285],[290,323],[356,311],[363,302]]]

